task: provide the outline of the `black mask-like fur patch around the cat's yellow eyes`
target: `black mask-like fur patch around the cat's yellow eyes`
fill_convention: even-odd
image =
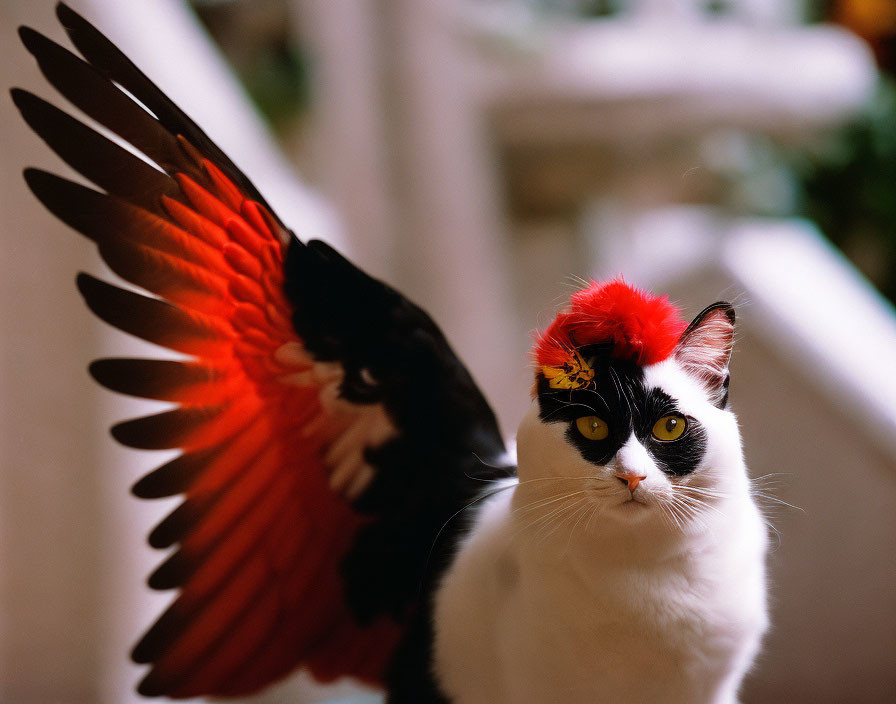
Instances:
[[[588,462],[606,465],[634,433],[657,466],[666,474],[693,472],[706,452],[706,431],[687,417],[685,432],[672,441],[654,437],[653,426],[663,416],[683,415],[665,391],[648,389],[644,372],[631,361],[613,359],[606,347],[592,348],[594,383],[581,389],[552,389],[539,375],[539,416],[545,423],[566,423],[566,437]],[[604,440],[588,440],[576,428],[576,419],[597,416],[609,429]]]

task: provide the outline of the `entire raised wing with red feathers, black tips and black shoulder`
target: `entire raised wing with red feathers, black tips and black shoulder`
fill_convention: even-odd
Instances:
[[[57,14],[84,59],[28,28],[25,46],[151,163],[16,89],[28,124],[101,190],[33,169],[26,180],[152,294],[81,274],[90,309],[185,356],[91,365],[110,389],[175,404],[116,439],[182,450],[134,487],[185,497],[149,538],[178,546],[150,586],[180,593],[134,649],[152,665],[140,691],[238,695],[300,664],[325,680],[394,679],[446,559],[436,538],[476,495],[479,458],[503,452],[492,411],[422,310],[296,239],[108,39]]]

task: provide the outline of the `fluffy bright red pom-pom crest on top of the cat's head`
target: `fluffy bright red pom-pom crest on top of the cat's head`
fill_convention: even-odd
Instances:
[[[647,366],[669,357],[686,327],[668,296],[622,279],[595,282],[572,295],[569,310],[538,336],[533,351],[540,366],[560,367],[579,348],[612,343],[614,357]]]

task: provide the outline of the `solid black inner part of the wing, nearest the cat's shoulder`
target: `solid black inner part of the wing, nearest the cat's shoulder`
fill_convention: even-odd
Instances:
[[[442,545],[433,541],[446,521],[475,499],[483,479],[507,476],[479,460],[504,453],[497,420],[435,323],[392,288],[322,242],[291,246],[285,269],[297,303],[293,322],[308,349],[340,360],[343,395],[378,400],[401,429],[368,451],[378,471],[356,506],[378,520],[362,531],[343,571],[358,618],[385,611],[403,619],[444,567],[441,549],[450,548],[457,526]]]

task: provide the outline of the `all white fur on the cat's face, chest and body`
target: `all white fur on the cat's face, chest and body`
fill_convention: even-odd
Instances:
[[[632,436],[595,466],[533,402],[518,483],[487,500],[437,595],[434,667],[452,701],[737,701],[767,626],[737,423],[679,360],[644,372],[705,428],[703,461],[669,477]],[[646,475],[634,492],[620,465]]]

